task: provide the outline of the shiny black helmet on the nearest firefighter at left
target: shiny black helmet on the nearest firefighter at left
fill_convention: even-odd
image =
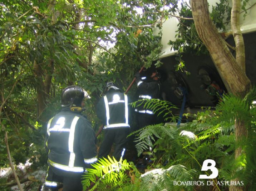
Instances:
[[[68,86],[61,94],[61,107],[74,107],[82,109],[84,98],[90,98],[88,93],[79,86]]]

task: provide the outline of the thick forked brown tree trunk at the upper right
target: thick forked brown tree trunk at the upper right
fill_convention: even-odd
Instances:
[[[239,26],[240,7],[240,0],[233,0],[231,25],[236,43],[235,59],[210,18],[207,0],[191,0],[192,15],[197,33],[207,47],[217,70],[227,82],[231,92],[236,96],[244,97],[251,87],[251,82],[245,74],[245,46]],[[244,138],[246,132],[245,124],[237,116],[235,122],[236,141]],[[235,159],[242,152],[241,147],[237,148]],[[230,186],[230,190],[245,190],[245,187]]]

